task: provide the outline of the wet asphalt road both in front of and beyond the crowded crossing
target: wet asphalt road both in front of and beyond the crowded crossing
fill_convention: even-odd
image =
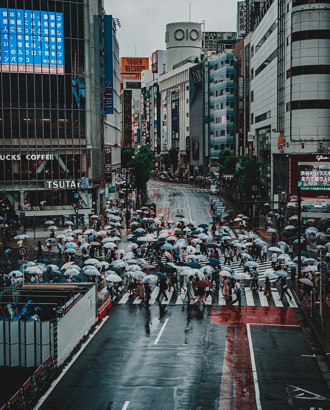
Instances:
[[[151,181],[149,191],[157,214],[173,219],[182,209],[197,224],[210,221],[206,190]],[[39,408],[330,409],[329,386],[295,310],[114,305]]]

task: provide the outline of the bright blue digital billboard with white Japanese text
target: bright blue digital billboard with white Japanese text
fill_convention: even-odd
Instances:
[[[64,74],[63,14],[0,8],[0,67]]]

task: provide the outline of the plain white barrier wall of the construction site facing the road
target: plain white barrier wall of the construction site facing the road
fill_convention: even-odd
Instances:
[[[57,366],[97,322],[96,313],[96,290],[93,286],[57,323]]]

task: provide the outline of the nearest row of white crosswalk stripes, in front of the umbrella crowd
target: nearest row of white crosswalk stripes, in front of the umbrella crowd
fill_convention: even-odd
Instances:
[[[160,302],[156,300],[159,292],[159,287],[155,286],[151,293],[151,298],[149,300],[150,305],[188,305],[188,299],[186,296],[186,292],[182,291],[179,293],[177,290],[173,291],[167,290],[166,296],[167,300],[161,296]],[[293,294],[291,289],[288,289],[289,295],[292,297],[292,300],[288,299],[286,295],[283,297],[283,301],[280,300],[281,297],[281,290],[280,288],[272,287],[272,295],[266,296],[261,292],[254,292],[248,286],[242,287],[242,306],[261,306],[261,307],[298,307],[295,299],[293,298]],[[229,295],[228,300],[224,299],[221,289],[215,290],[213,292],[213,297],[216,299],[215,302],[212,302],[212,296],[209,295],[205,301],[205,305],[212,305],[212,306],[230,306],[232,300],[236,299],[236,295]],[[197,300],[197,297],[195,297]],[[135,295],[130,296],[128,292],[124,293],[122,296],[114,296],[112,298],[112,302],[115,305],[143,305],[144,301],[138,298]],[[191,304],[194,301],[191,302]]]

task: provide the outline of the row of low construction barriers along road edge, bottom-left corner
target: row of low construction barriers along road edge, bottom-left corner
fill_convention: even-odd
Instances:
[[[0,410],[31,409],[31,402],[38,396],[44,386],[50,382],[55,373],[54,358],[49,356]]]

